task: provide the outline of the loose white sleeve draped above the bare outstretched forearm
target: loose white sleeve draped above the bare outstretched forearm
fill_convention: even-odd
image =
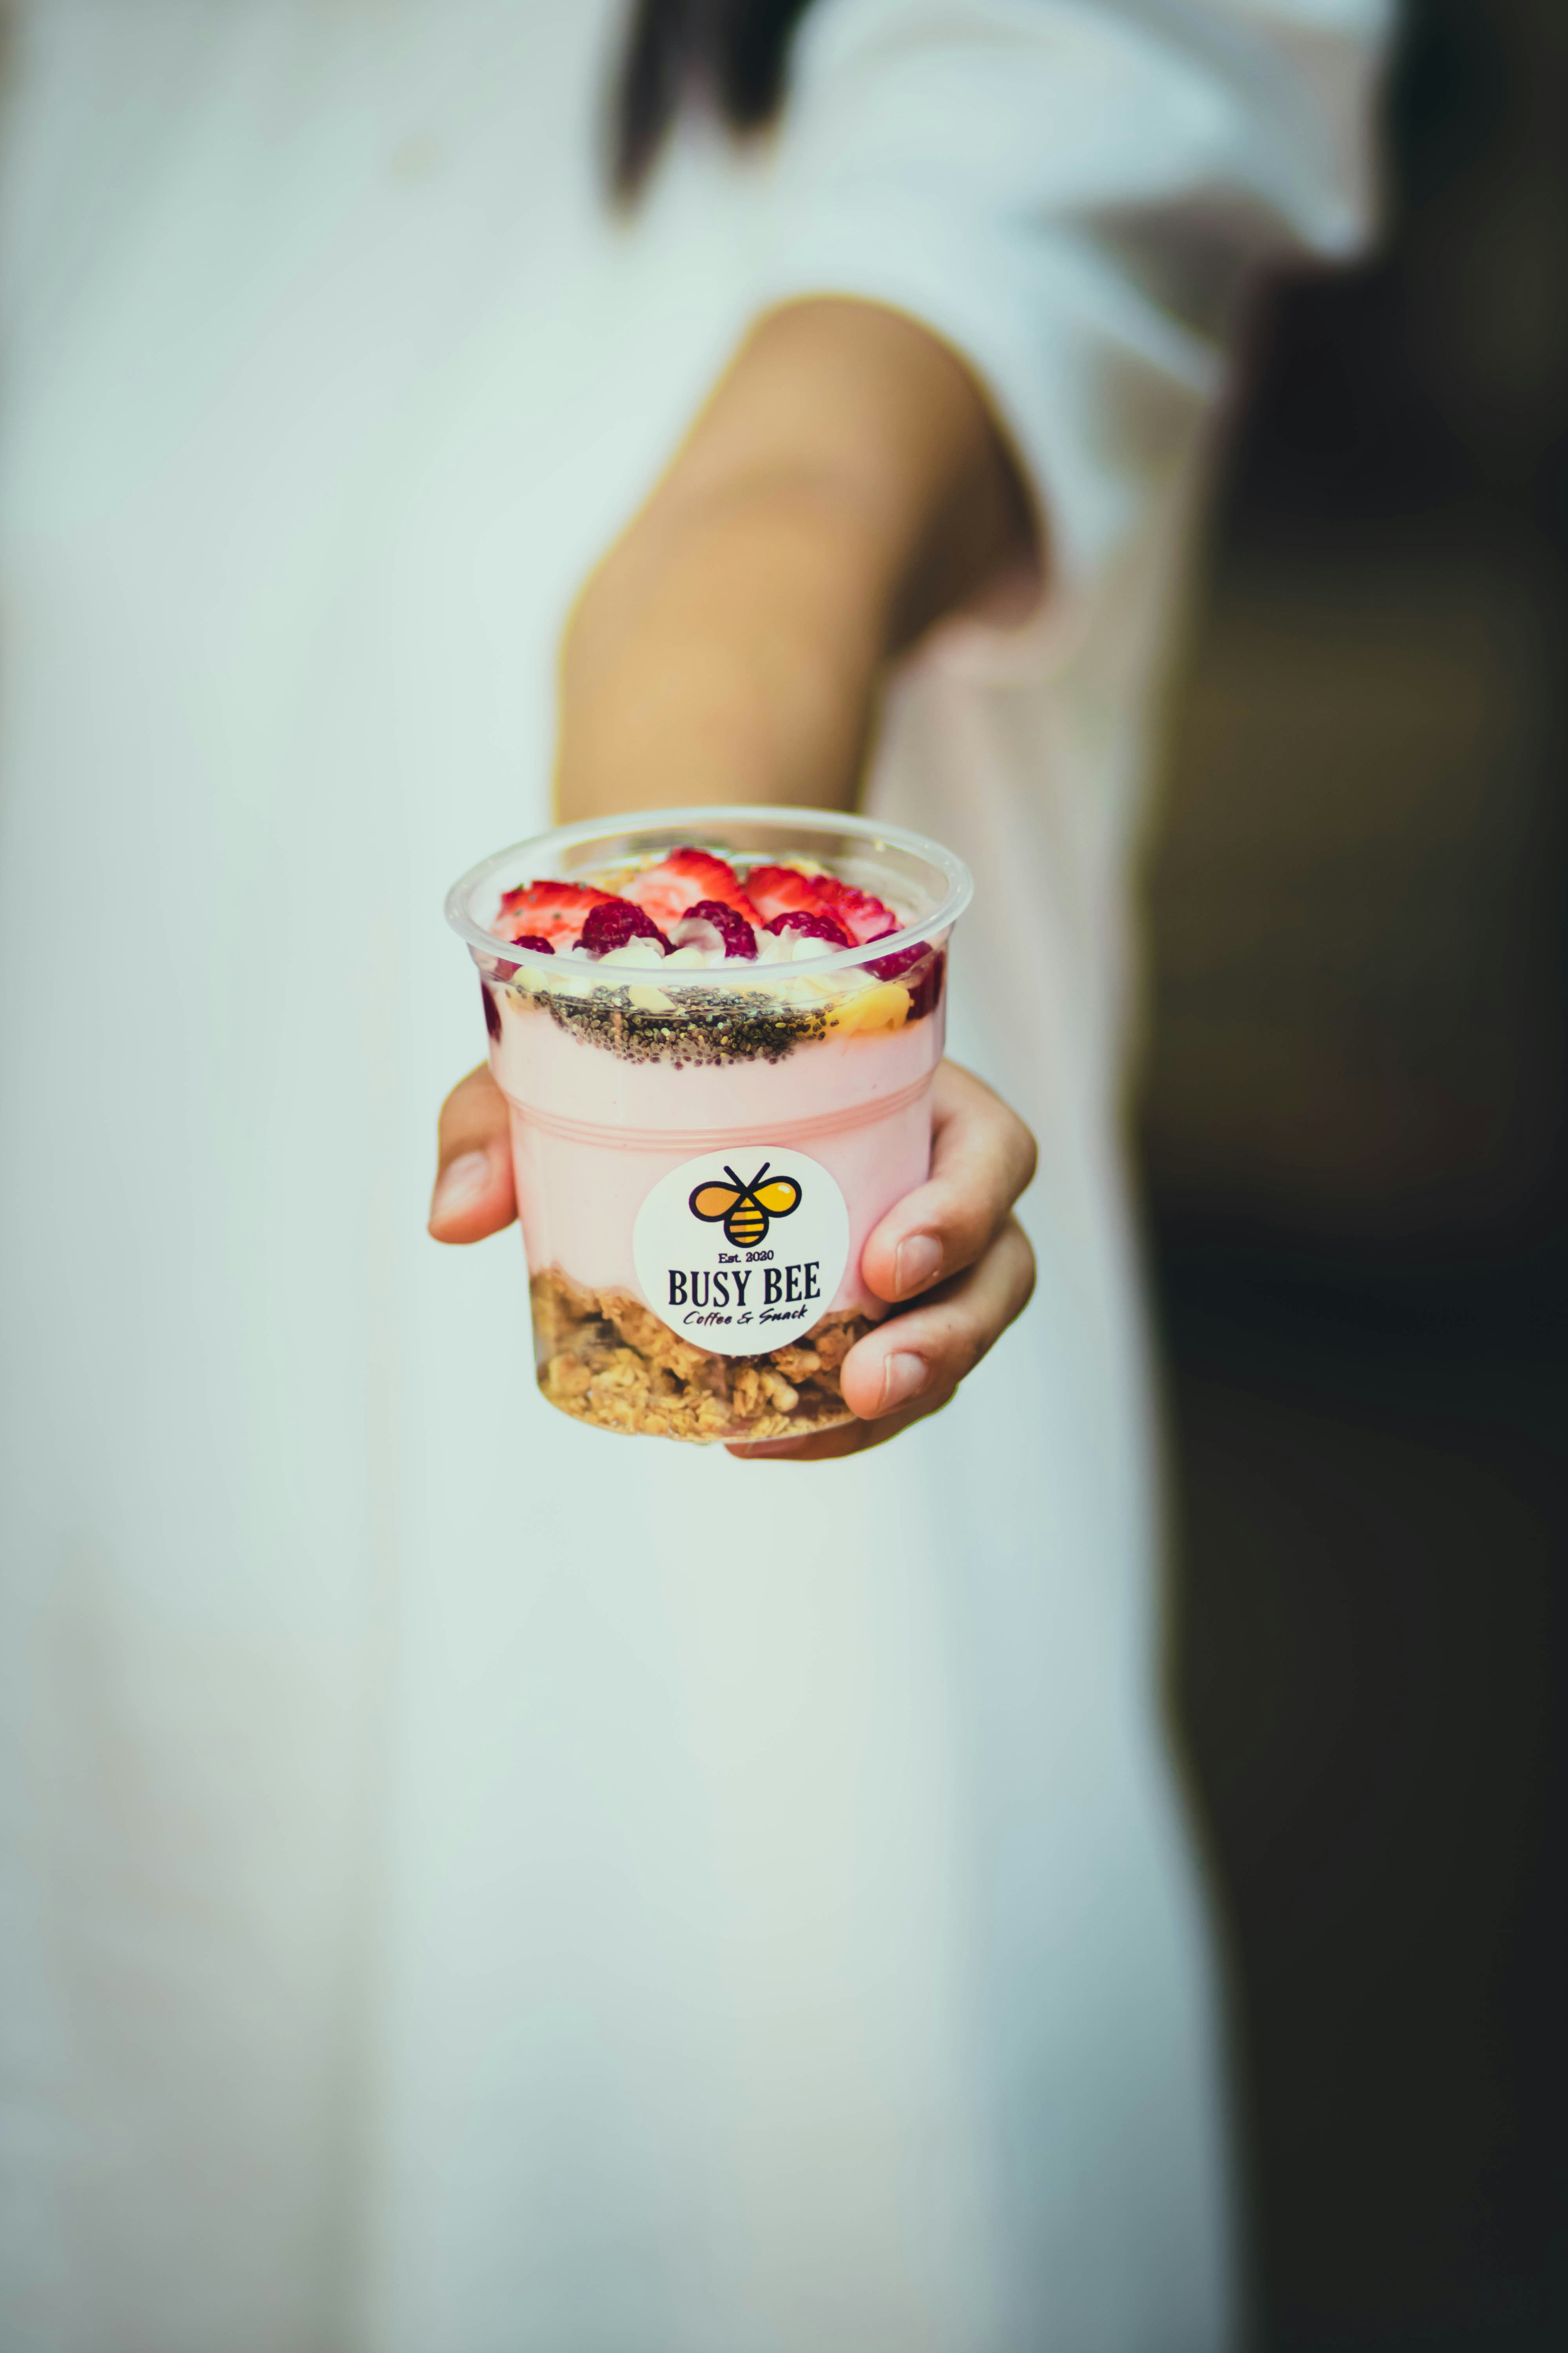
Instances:
[[[952,344],[1081,579],[1192,447],[1248,273],[1366,238],[1387,28],[1387,0],[818,0],[762,301]]]

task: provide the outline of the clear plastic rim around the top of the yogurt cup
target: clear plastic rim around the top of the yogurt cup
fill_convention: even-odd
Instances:
[[[520,948],[515,941],[496,939],[494,932],[473,922],[468,908],[491,875],[527,852],[538,852],[548,859],[557,856],[562,849],[576,847],[578,842],[590,842],[602,833],[675,833],[703,842],[705,835],[726,824],[790,826],[806,833],[856,833],[867,842],[886,842],[891,849],[907,849],[910,854],[926,859],[926,864],[936,866],[938,873],[947,878],[947,889],[940,904],[922,918],[922,922],[912,922],[900,932],[889,932],[884,939],[860,941],[851,948],[830,948],[825,955],[795,958],[788,967],[790,979],[797,974],[846,972],[856,965],[875,962],[879,955],[898,955],[903,948],[914,948],[938,932],[950,932],[973,899],[976,885],[964,859],[954,856],[952,849],[945,849],[940,842],[933,842],[931,835],[912,833],[907,826],[886,826],[877,816],[853,816],[839,809],[780,809],[773,802],[715,802],[684,809],[630,809],[623,816],[590,816],[578,826],[552,826],[548,833],[534,833],[522,842],[508,842],[505,849],[491,852],[491,856],[470,866],[465,875],[458,875],[447,892],[447,922],[458,939],[468,941],[470,951],[477,951],[491,965],[527,965],[541,974],[559,972],[562,958],[543,955],[538,948]],[[543,866],[543,873],[550,873],[548,864]],[[703,972],[670,972],[661,986],[712,986],[715,972],[722,972],[722,967],[710,965]]]

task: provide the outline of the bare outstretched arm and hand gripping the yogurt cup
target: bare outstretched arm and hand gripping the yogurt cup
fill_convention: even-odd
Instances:
[[[875,304],[773,311],[571,614],[559,816],[849,807],[889,656],[1030,558],[1011,461],[945,344]],[[844,1454],[945,1405],[1030,1297],[1011,1209],[1032,1172],[1023,1120],[943,1064],[931,1181],[860,1261],[907,1313],[844,1360],[858,1424],[738,1452]],[[430,1233],[477,1242],[515,1214],[505,1104],[480,1068],[442,1108]]]

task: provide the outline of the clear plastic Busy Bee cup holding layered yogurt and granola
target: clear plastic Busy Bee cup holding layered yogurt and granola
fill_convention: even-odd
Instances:
[[[503,894],[701,847],[745,880],[827,868],[896,936],[665,969],[510,939]],[[658,809],[484,859],[447,920],[480,967],[550,1405],[649,1438],[797,1438],[853,1419],[839,1367],[886,1313],[860,1252],[931,1167],[947,939],[969,871],[917,833],[820,809]],[[501,936],[496,925],[501,922]],[[769,951],[773,953],[773,951]]]

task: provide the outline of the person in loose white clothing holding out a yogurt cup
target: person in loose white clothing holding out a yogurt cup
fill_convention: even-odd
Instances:
[[[14,2353],[1227,2341],[1128,859],[1237,292],[1361,235],[1380,28],[16,9]],[[515,1238],[423,1238],[442,1094],[430,1231],[510,1217],[440,892],[552,769],[976,871],[839,1459],[555,1417]]]

